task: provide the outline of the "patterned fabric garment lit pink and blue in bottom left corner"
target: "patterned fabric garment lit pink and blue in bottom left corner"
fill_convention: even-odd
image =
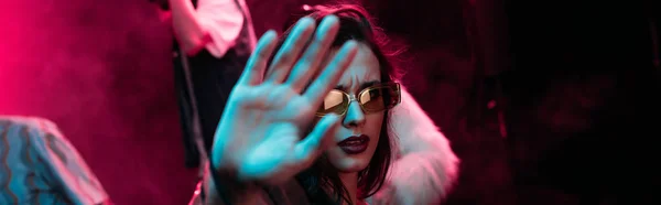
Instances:
[[[0,116],[0,204],[109,204],[101,184],[55,123]]]

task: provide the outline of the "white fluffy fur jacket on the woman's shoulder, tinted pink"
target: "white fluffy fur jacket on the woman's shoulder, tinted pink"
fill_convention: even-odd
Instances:
[[[404,87],[401,104],[393,108],[390,119],[399,137],[398,159],[370,204],[441,203],[458,176],[459,159],[449,141]]]

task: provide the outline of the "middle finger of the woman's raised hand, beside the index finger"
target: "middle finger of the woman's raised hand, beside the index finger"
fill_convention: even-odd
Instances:
[[[299,60],[288,79],[286,84],[290,84],[296,93],[303,90],[312,75],[319,71],[318,66],[325,54],[328,53],[328,47],[335,40],[337,31],[339,31],[339,20],[335,15],[326,17],[319,23],[313,42],[305,50],[303,57]]]

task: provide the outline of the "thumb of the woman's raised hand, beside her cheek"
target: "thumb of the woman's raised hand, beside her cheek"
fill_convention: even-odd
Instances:
[[[339,128],[340,118],[337,115],[324,116],[314,127],[312,132],[301,140],[294,147],[294,164],[299,164],[297,169],[307,169],[315,159],[326,149],[329,143],[324,143],[333,140],[333,136]]]

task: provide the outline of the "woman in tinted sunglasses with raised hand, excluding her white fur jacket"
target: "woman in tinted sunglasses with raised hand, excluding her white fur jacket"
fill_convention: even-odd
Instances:
[[[216,132],[207,204],[362,204],[381,187],[400,87],[365,13],[325,8],[262,36]]]

